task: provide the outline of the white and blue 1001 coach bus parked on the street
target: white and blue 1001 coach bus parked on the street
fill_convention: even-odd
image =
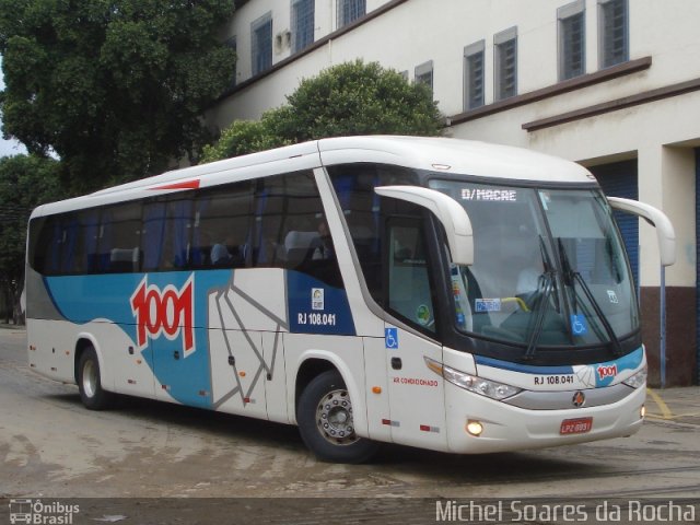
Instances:
[[[582,166],[453,139],[325,139],[34,210],[32,370],[298,424],[322,459],[630,435],[646,359],[611,208]]]

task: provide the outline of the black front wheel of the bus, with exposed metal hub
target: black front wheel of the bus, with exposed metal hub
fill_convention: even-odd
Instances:
[[[378,443],[359,438],[352,424],[352,405],[342,376],[335,370],[314,377],[299,398],[296,422],[302,440],[318,459],[364,463]]]

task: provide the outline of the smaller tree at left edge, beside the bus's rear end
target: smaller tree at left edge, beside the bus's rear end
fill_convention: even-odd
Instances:
[[[13,312],[20,317],[19,303],[24,288],[24,250],[27,220],[37,206],[62,195],[59,162],[36,155],[0,159],[0,295],[5,322]]]

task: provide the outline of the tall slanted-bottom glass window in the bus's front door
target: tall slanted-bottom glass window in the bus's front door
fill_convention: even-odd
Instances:
[[[435,331],[435,307],[422,221],[389,219],[388,307],[420,329]]]

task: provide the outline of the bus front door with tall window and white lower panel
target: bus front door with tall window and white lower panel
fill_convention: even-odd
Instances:
[[[402,322],[385,324],[388,424],[395,443],[444,450],[443,378],[425,364],[425,358],[442,362],[442,346],[436,342],[435,279],[431,275],[435,257],[427,249],[427,221],[420,209],[417,215],[386,221],[385,305]]]

